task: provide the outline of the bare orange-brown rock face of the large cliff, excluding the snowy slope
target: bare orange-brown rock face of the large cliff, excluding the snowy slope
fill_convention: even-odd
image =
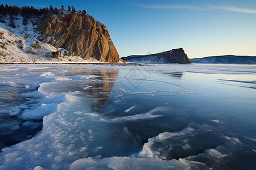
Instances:
[[[67,56],[94,58],[100,62],[119,61],[108,29],[92,16],[68,11],[57,15],[47,12],[37,28],[42,33],[42,41],[67,50]]]

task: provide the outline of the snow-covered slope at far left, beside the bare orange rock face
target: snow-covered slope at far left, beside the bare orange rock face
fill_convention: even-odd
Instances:
[[[0,22],[0,63],[98,63],[94,58],[82,59],[80,56],[65,56],[64,49],[57,49],[47,40],[38,41],[40,32],[37,23],[40,18],[28,19],[27,25],[22,24],[23,17],[16,16],[10,27],[10,15],[6,15],[5,23]],[[27,35],[27,37],[26,37]],[[26,38],[25,38],[26,37]],[[61,56],[52,58],[52,52],[61,50]]]

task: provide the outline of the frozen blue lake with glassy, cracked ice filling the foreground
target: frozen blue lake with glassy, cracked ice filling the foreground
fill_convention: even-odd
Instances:
[[[255,169],[255,65],[1,65],[0,169]]]

